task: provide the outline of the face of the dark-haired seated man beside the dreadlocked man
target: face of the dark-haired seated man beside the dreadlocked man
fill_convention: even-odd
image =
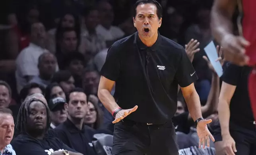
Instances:
[[[75,119],[84,119],[88,109],[85,93],[73,92],[69,97],[69,103],[65,104],[68,115]]]

